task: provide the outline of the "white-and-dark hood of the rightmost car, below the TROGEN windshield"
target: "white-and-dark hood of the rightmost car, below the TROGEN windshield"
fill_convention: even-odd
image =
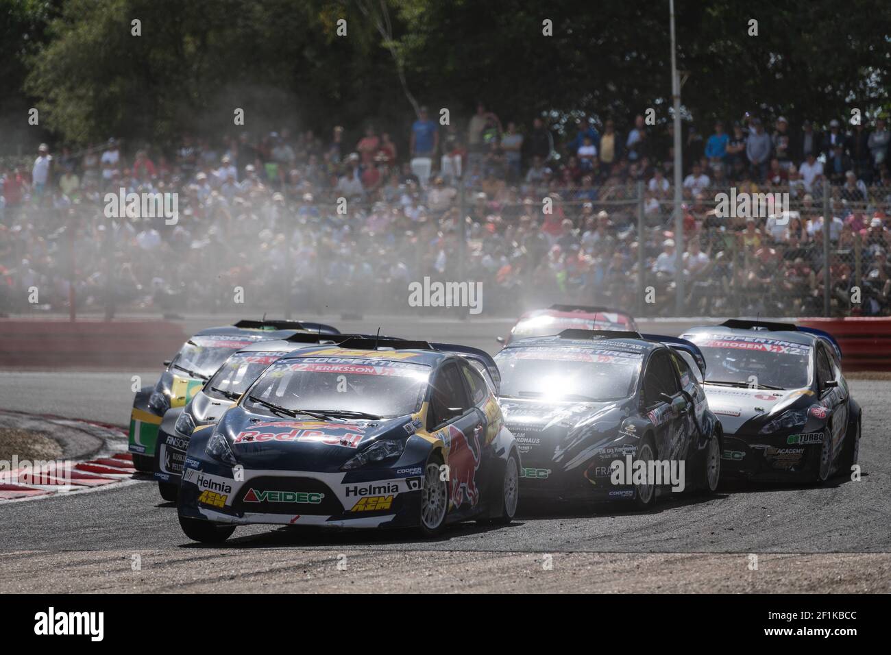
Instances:
[[[702,389],[706,392],[708,408],[721,422],[724,434],[735,434],[744,425],[746,430],[770,421],[787,409],[799,403],[811,405],[813,391],[810,389],[746,389],[723,387],[706,382]],[[747,425],[751,422],[751,425]],[[757,431],[757,430],[756,430]]]

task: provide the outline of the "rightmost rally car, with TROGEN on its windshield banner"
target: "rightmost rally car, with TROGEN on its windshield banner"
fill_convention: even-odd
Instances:
[[[822,484],[860,452],[861,408],[826,332],[731,319],[691,328],[708,363],[703,389],[724,427],[730,477]]]

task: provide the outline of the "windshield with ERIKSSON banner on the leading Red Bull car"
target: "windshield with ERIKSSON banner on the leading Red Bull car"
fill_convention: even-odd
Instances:
[[[251,412],[286,410],[364,413],[392,418],[415,413],[427,390],[430,367],[380,359],[301,357],[272,364],[248,391]]]

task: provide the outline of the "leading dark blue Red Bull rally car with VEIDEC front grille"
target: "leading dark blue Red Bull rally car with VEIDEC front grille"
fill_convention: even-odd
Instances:
[[[509,522],[519,454],[481,350],[352,339],[271,364],[215,426],[192,432],[179,489],[186,536],[238,525],[417,527]]]

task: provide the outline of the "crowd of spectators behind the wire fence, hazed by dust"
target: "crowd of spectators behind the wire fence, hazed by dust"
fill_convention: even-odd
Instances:
[[[820,314],[826,292],[838,314],[891,313],[885,119],[771,122],[684,128],[685,311]],[[489,312],[674,311],[673,126],[643,116],[557,128],[504,123],[479,103],[450,125],[421,108],[396,135],[369,123],[170,147],[41,144],[0,168],[0,184],[0,312],[28,309],[35,287],[47,310],[73,297],[82,309],[231,311],[240,288],[247,307],[280,313],[400,312],[427,275],[483,282]],[[789,210],[724,217],[715,195],[731,187],[788,193]],[[105,194],[119,189],[176,193],[176,223],[107,217]]]

